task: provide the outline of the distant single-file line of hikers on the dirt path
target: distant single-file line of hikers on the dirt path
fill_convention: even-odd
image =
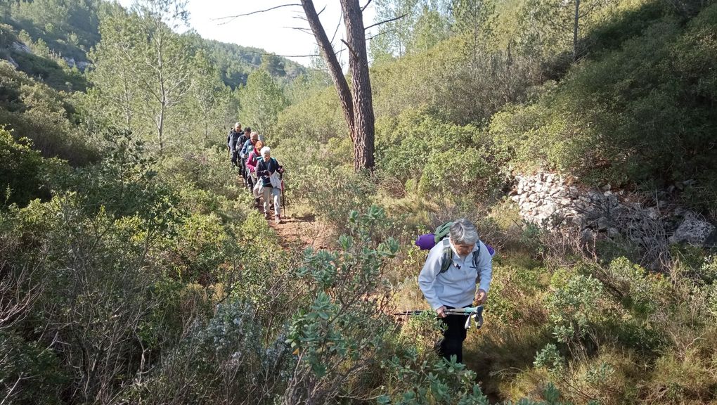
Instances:
[[[227,148],[232,166],[239,169],[244,186],[254,195],[257,206],[264,199],[264,217],[270,219],[273,205],[274,219],[281,224],[284,168],[271,157],[271,148],[265,145],[262,135],[250,127],[242,130],[242,124],[235,123],[227,135]]]

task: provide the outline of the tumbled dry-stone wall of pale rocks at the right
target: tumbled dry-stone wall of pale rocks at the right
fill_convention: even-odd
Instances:
[[[701,215],[660,199],[635,201],[609,187],[586,189],[556,173],[516,175],[511,199],[521,217],[548,229],[577,229],[583,239],[627,238],[643,247],[689,243],[704,246],[717,239],[716,228]]]

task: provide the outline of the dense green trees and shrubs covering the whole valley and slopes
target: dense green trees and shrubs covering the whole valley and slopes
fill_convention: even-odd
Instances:
[[[717,4],[576,1],[374,0],[371,173],[320,59],[201,39],[170,0],[1,2],[0,402],[717,401],[712,249],[582,244],[507,197],[558,171],[717,219]],[[236,120],[328,249],[253,208]],[[412,239],[457,216],[498,249],[465,365],[389,315],[427,308]]]

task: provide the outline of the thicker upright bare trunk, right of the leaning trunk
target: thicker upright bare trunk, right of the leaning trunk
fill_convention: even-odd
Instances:
[[[374,101],[371,96],[369,58],[366,56],[364,19],[359,0],[341,0],[346,24],[348,69],[353,87],[353,168],[374,169]]]

